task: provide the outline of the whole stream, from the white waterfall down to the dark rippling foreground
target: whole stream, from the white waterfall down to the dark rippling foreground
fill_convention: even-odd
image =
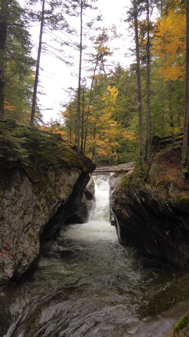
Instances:
[[[1,336],[158,337],[189,309],[189,273],[119,245],[108,178],[93,178],[88,223],[63,227],[32,276],[0,288]]]

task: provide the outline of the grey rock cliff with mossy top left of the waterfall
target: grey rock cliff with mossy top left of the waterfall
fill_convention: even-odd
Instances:
[[[68,151],[68,150],[67,150]],[[41,172],[2,172],[0,182],[0,281],[19,279],[50,247],[64,221],[79,208],[95,167],[69,150],[68,165]],[[71,159],[72,158],[72,159]],[[66,159],[64,158],[66,161]],[[38,173],[36,173],[38,176]]]

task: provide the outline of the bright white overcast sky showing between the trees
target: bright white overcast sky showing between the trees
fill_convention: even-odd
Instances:
[[[114,24],[117,27],[117,32],[122,34],[122,37],[116,41],[112,41],[109,47],[119,48],[119,50],[114,51],[111,61],[115,63],[120,62],[124,68],[128,67],[132,62],[131,57],[124,56],[125,53],[129,52],[128,49],[131,47],[131,44],[133,44],[132,38],[127,31],[128,24],[123,21],[126,19],[127,9],[125,6],[129,7],[129,5],[130,0],[99,0],[97,2],[99,10],[94,13],[95,17],[99,12],[102,14],[103,21],[98,23],[99,26],[111,27]],[[87,21],[89,21],[89,19]],[[77,29],[79,30],[79,21],[74,18],[72,22],[76,28],[78,25]],[[33,49],[34,57],[36,57],[38,47],[39,30],[39,25],[31,30],[33,43],[35,44],[35,48]],[[93,33],[91,33],[91,35],[93,35]],[[48,41],[47,39],[48,36],[44,34],[42,40]],[[79,36],[76,37],[76,39],[79,43]],[[84,41],[84,43],[87,43],[87,41]],[[41,54],[40,67],[43,70],[40,70],[39,79],[41,87],[38,87],[38,89],[42,90],[45,95],[38,94],[38,98],[44,121],[49,120],[49,118],[58,118],[57,113],[59,113],[61,109],[63,110],[63,108],[61,108],[61,102],[68,102],[68,97],[64,89],[68,87],[77,88],[78,86],[79,53],[73,50],[67,50],[67,52],[74,56],[74,66],[67,66],[63,61]],[[84,74],[85,71],[83,75]]]

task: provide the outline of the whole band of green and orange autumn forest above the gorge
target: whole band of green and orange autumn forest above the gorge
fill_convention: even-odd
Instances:
[[[124,13],[135,45],[130,51],[134,61],[129,67],[123,67],[119,59],[114,60],[113,67],[109,64],[110,57],[114,57],[110,42],[120,36],[115,25],[102,27],[101,16],[96,10],[98,1],[31,0],[22,7],[16,0],[1,0],[0,4],[1,158],[4,158],[6,141],[14,146],[14,137],[22,138],[18,130],[20,123],[51,134],[61,133],[64,141],[76,146],[81,155],[87,155],[97,164],[140,162],[144,174],[144,166],[149,167],[154,151],[154,137],[184,132],[182,173],[186,176],[187,2],[131,1]],[[91,12],[93,18],[89,22],[86,12]],[[79,20],[79,28],[70,25],[70,17]],[[39,24],[36,59],[32,53],[31,22]],[[44,34],[49,32],[56,42],[55,48],[54,43],[44,42]],[[90,50],[84,45],[84,34],[90,37],[93,46]],[[74,49],[79,53],[76,86],[67,89],[69,101],[62,106],[60,118],[44,123],[38,103],[39,72],[43,68],[40,56],[41,53],[53,55],[71,68],[72,60],[66,55],[68,49],[70,54]],[[83,60],[86,60],[84,72]],[[16,122],[15,134],[10,129],[7,133],[4,122],[8,120]],[[6,155],[7,160],[22,160],[22,142],[16,142],[20,156],[14,159],[11,150],[10,157]]]

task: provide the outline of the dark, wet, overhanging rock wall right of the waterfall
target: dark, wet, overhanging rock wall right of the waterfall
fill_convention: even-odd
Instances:
[[[122,245],[188,266],[189,195],[170,177],[156,180],[160,170],[152,165],[150,183],[134,173],[122,180],[113,206],[118,239]]]

